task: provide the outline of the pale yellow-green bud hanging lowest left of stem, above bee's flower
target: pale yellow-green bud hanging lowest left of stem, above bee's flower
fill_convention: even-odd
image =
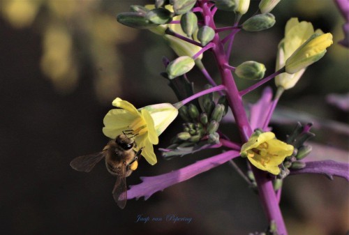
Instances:
[[[168,64],[166,73],[168,73],[168,78],[172,79],[188,73],[194,66],[195,61],[191,56],[180,56]]]

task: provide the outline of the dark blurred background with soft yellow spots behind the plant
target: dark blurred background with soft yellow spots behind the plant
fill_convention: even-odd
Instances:
[[[258,2],[251,1],[251,14]],[[70,160],[101,151],[107,143],[101,131],[103,117],[114,98],[136,107],[177,101],[159,75],[164,70],[162,56],[174,59],[173,52],[160,36],[115,20],[131,4],[145,3],[152,2],[1,0],[0,234],[240,235],[265,229],[258,197],[228,164],[157,192],[145,202],[130,200],[122,211],[112,199],[115,179],[103,163],[89,174],[70,168]],[[349,87],[348,50],[336,45],[343,38],[341,15],[329,0],[281,1],[273,13],[277,22],[272,29],[237,35],[232,65],[260,61],[267,74],[272,73],[290,17],[334,34],[334,45],[294,89],[285,92],[280,110],[288,107],[284,111],[291,119],[296,116],[295,121],[310,115],[309,121],[318,123],[313,141],[331,146],[339,152],[337,159],[348,161],[348,110],[327,103],[327,95],[346,94]],[[231,13],[219,13],[216,20],[233,18]],[[211,59],[207,54],[204,63],[217,78]],[[196,90],[202,89],[205,82],[199,73],[189,77]],[[240,88],[251,84],[239,79],[237,83]],[[247,99],[253,102],[259,95],[256,91]],[[275,127],[283,135],[292,130],[290,124]],[[180,120],[175,121],[161,135],[159,146],[168,146],[180,128]],[[327,153],[327,159],[334,158],[332,151]],[[153,167],[141,160],[127,183],[140,183],[140,176],[169,172],[212,154],[206,151],[170,161],[158,155]],[[345,234],[348,192],[343,179],[288,177],[281,209],[290,234]],[[172,214],[192,220],[135,222],[138,215]]]

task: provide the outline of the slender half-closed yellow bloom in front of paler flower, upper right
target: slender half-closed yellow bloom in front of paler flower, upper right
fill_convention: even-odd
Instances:
[[[286,60],[286,73],[297,73],[299,70],[315,63],[325,55],[326,48],[332,45],[332,43],[331,33],[320,35],[314,33]]]

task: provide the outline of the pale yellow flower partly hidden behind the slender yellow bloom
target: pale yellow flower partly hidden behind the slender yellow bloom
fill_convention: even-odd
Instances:
[[[297,18],[288,20],[285,26],[285,38],[279,43],[279,52],[276,57],[276,70],[285,66],[285,61],[306,42],[314,33],[322,34],[320,29],[314,31],[313,25],[310,22],[299,22]],[[320,58],[319,58],[320,59]],[[290,67],[288,67],[290,68]],[[281,73],[275,77],[276,86],[281,86],[283,89],[291,89],[302,77],[306,67],[300,68],[296,73]],[[290,72],[290,71],[288,71]]]

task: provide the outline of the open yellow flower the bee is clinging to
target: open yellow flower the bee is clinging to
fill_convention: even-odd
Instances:
[[[131,103],[120,98],[116,98],[112,105],[118,109],[111,109],[105,115],[104,135],[114,139],[122,131],[132,130],[137,144],[135,150],[143,148],[142,156],[149,164],[154,165],[156,156],[153,144],[158,144],[158,136],[176,118],[178,110],[168,103],[136,109]]]

